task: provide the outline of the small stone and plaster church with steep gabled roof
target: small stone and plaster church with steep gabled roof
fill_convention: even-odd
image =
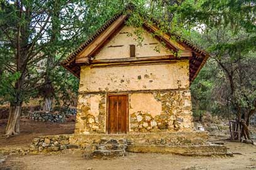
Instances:
[[[208,54],[171,32],[154,34],[157,22],[138,28],[128,18],[112,17],[61,63],[80,79],[75,134],[191,132],[189,86]]]

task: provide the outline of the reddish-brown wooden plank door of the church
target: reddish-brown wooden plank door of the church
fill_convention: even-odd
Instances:
[[[108,133],[127,133],[127,95],[109,96]]]

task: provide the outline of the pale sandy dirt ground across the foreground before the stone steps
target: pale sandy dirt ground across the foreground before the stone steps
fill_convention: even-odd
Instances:
[[[0,169],[256,169],[256,146],[243,143],[226,143],[233,157],[189,157],[172,154],[135,154],[112,159],[85,160],[80,154],[9,156]]]

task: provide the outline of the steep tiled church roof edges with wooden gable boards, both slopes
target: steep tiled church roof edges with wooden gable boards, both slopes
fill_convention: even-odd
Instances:
[[[75,52],[70,54],[70,56],[61,63],[61,66],[65,67],[79,78],[80,66],[90,64],[91,58],[97,56],[109,41],[124,28],[127,18],[128,16],[122,13],[112,17],[112,19],[107,21],[104,26],[100,27],[90,39],[83,43]],[[157,26],[149,25],[147,22],[143,24],[143,27],[149,32],[156,32],[159,30]],[[172,37],[175,37],[176,41],[174,41]],[[174,52],[181,51],[181,57],[189,57],[189,81],[193,81],[209,55],[198,47],[193,46],[191,42],[181,39],[181,37],[176,34],[162,34],[155,36],[155,38],[160,42],[164,42],[168,49]],[[174,55],[170,55],[169,58],[178,59],[174,57]]]

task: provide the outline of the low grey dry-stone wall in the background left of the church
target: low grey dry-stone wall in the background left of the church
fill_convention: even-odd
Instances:
[[[65,122],[65,114],[58,112],[50,113],[46,111],[35,111],[30,114],[30,119],[42,122],[63,123]]]

